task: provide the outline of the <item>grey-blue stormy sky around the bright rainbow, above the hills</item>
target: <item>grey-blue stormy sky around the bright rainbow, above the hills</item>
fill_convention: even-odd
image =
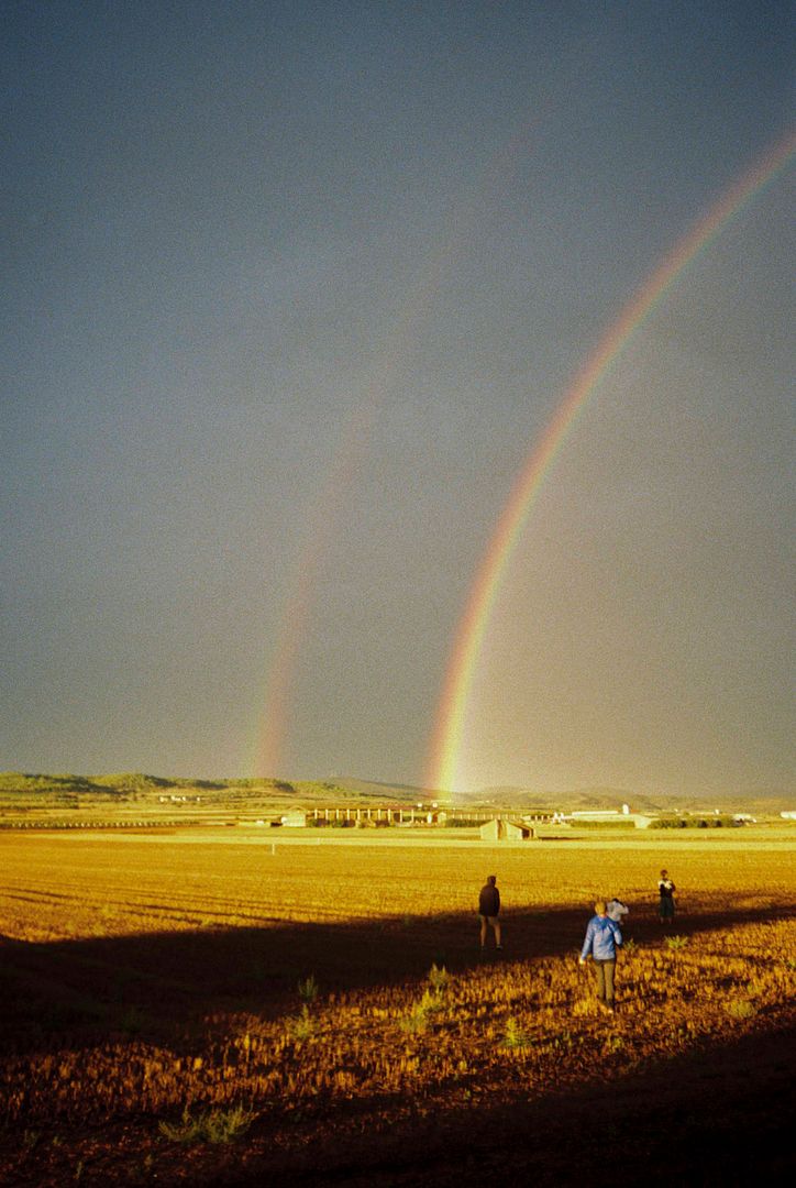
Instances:
[[[789,8],[11,0],[0,769],[428,783],[535,443],[796,122]],[[792,790],[792,178],[589,394],[448,791]]]

